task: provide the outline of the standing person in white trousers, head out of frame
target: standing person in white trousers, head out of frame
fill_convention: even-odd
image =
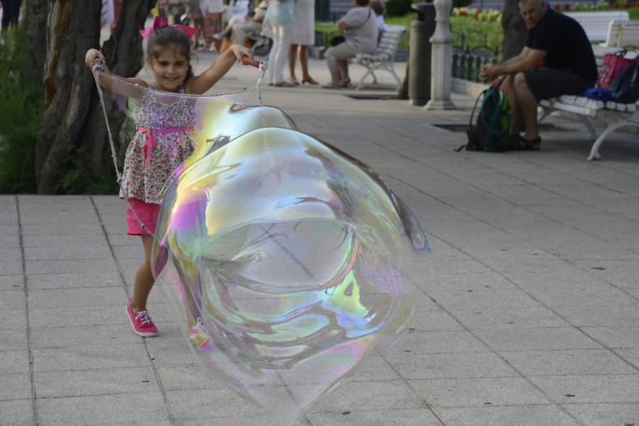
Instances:
[[[295,87],[284,81],[284,66],[295,33],[295,4],[293,0],[272,0],[268,2],[266,18],[273,31],[273,47],[268,55],[271,72],[271,86]]]

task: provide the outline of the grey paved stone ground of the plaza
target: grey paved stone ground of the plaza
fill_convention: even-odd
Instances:
[[[255,72],[231,76],[219,90]],[[584,130],[555,120],[541,152],[456,153],[464,134],[435,124],[466,123],[472,99],[425,113],[344,94],[263,98],[386,176],[432,255],[414,330],[285,425],[639,425],[637,136],[586,162]],[[282,425],[202,372],[162,291],[160,336],[133,335],[124,212],[115,196],[0,196],[0,425]]]

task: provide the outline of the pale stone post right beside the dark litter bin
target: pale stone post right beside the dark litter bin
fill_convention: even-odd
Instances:
[[[454,109],[452,91],[452,35],[450,9],[452,0],[435,0],[435,33],[430,38],[432,59],[430,73],[430,101],[427,110]]]

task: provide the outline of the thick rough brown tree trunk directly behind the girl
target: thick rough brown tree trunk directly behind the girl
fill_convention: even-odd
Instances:
[[[39,0],[30,0],[39,1]],[[65,172],[75,169],[85,185],[102,181],[110,153],[107,131],[92,73],[84,54],[99,47],[101,0],[50,0],[48,55],[45,63],[45,108],[35,149],[38,194],[55,194]],[[104,55],[114,74],[133,77],[141,69],[143,28],[155,0],[129,0],[122,5],[114,35]],[[109,105],[111,129],[117,138],[124,114]],[[113,169],[109,169],[113,173]]]

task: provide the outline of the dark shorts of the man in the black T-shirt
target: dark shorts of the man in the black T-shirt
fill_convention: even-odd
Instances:
[[[532,92],[532,96],[535,96],[537,102],[561,95],[579,95],[593,86],[579,74],[548,67],[539,67],[535,68],[534,71],[524,72],[524,76],[528,89]]]

